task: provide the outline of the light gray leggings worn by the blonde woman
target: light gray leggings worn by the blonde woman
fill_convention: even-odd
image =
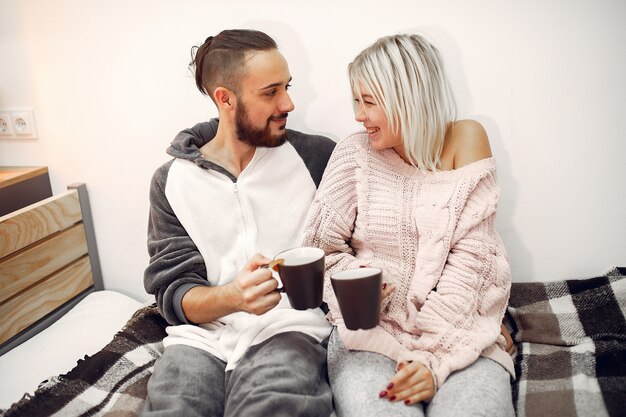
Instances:
[[[347,350],[334,329],[328,345],[328,376],[340,417],[513,417],[509,373],[498,363],[478,358],[454,372],[430,404],[407,406],[378,394],[396,374],[395,362],[372,352]]]

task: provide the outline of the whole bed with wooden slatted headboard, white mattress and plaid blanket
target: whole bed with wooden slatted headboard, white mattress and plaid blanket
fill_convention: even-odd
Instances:
[[[513,284],[518,417],[626,415],[625,275]],[[166,322],[103,289],[84,184],[0,217],[0,317],[1,416],[138,415]]]

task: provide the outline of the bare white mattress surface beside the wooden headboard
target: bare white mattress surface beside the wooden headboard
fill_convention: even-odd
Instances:
[[[0,410],[98,352],[141,306],[115,291],[91,293],[52,326],[0,356]]]

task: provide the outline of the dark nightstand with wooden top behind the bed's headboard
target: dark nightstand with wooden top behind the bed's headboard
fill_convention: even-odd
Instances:
[[[47,167],[0,166],[0,216],[52,197]]]

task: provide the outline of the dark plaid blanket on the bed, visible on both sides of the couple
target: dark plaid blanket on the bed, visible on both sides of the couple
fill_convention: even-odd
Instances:
[[[626,415],[626,268],[602,277],[514,283],[505,325],[516,343],[518,417]],[[45,381],[3,417],[137,416],[167,323],[139,310],[100,352]]]

